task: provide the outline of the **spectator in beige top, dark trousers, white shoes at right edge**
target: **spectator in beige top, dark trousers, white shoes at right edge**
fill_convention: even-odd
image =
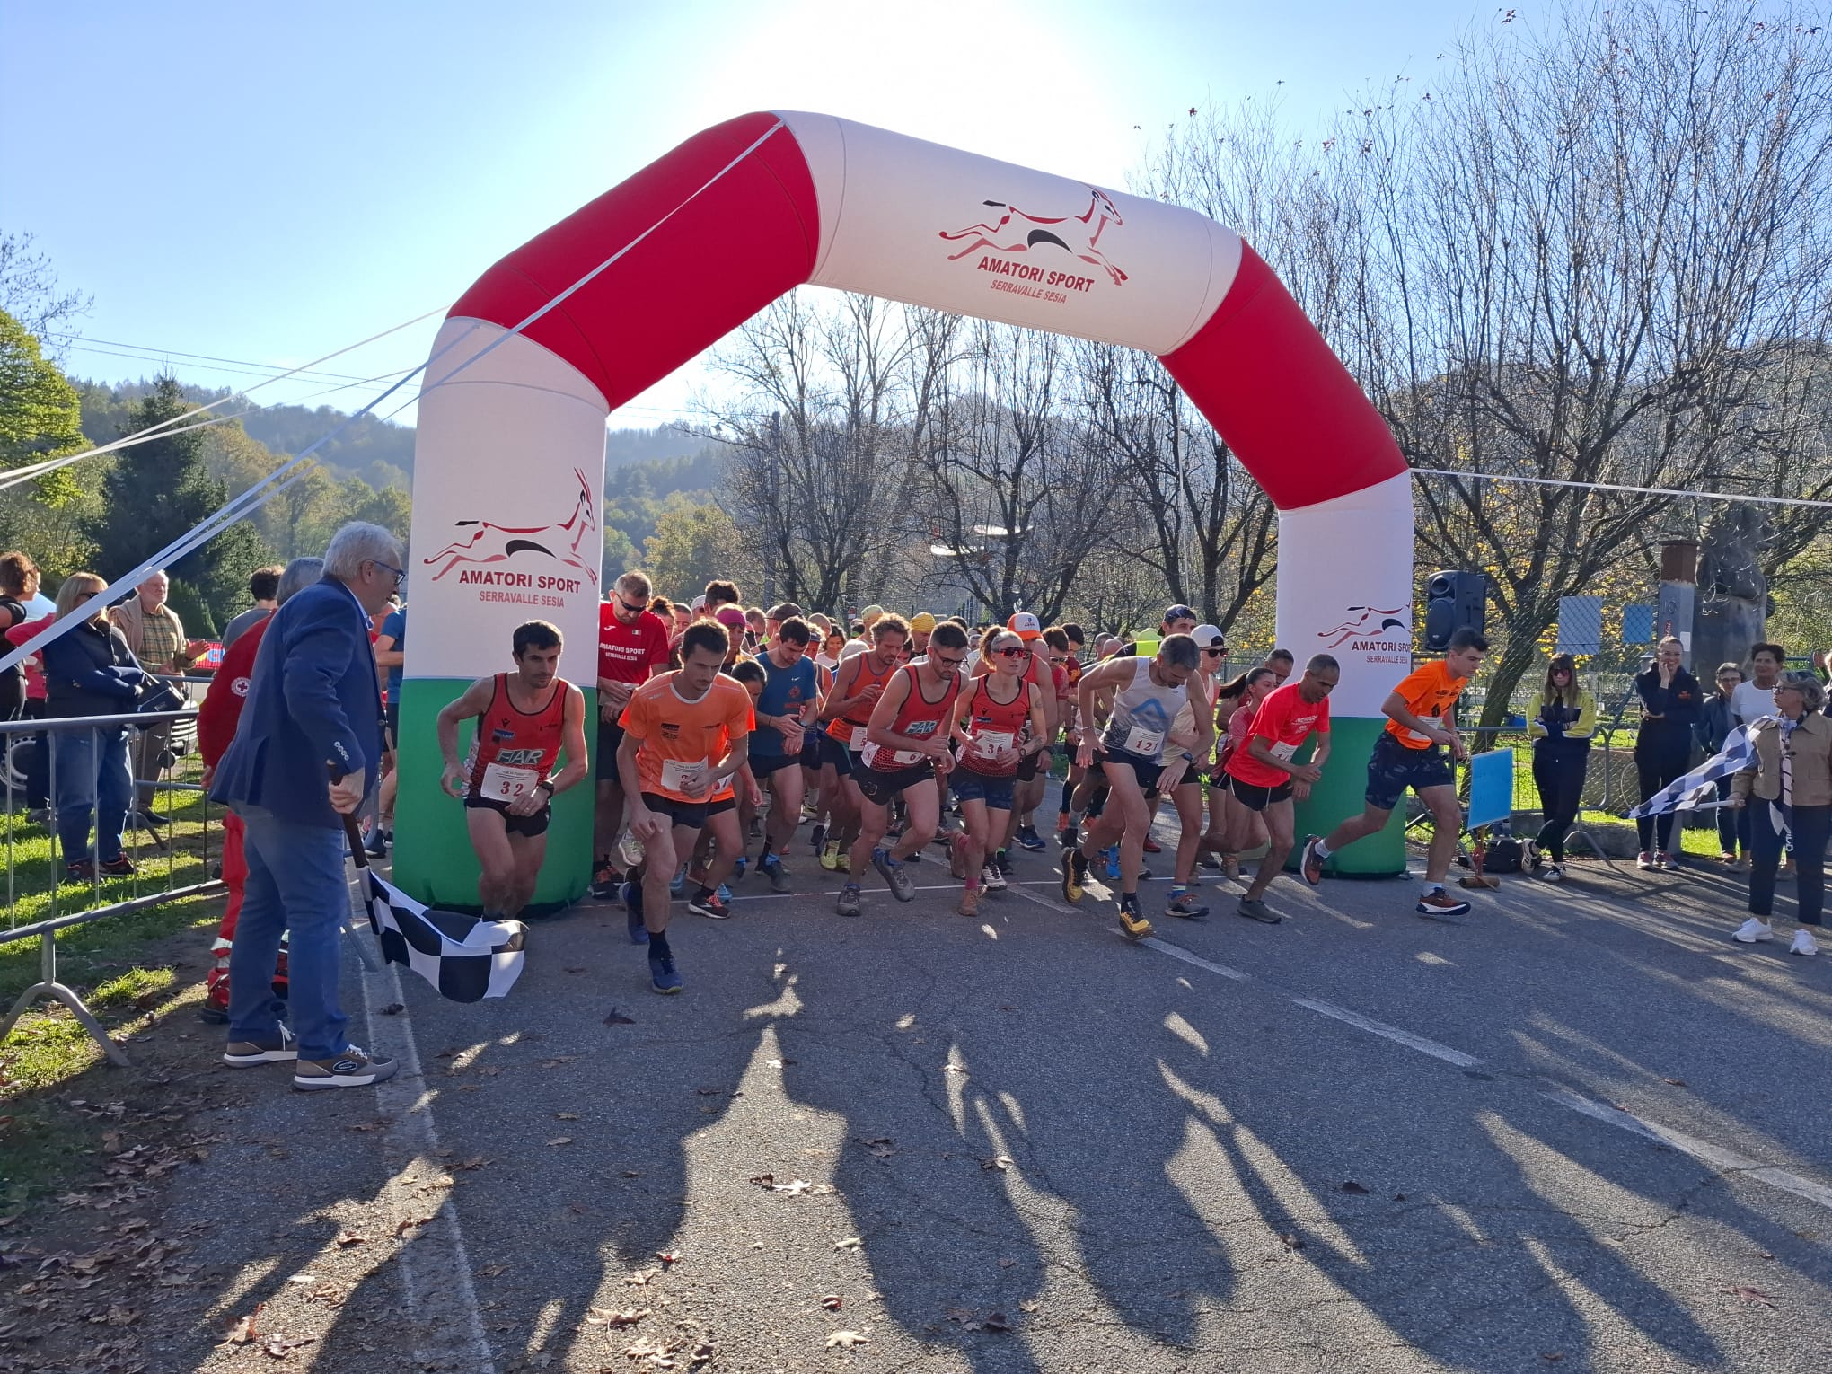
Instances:
[[[1775,714],[1750,725],[1753,764],[1731,780],[1731,806],[1750,810],[1750,920],[1735,938],[1773,940],[1775,870],[1783,832],[1794,835],[1799,870],[1799,925],[1790,954],[1817,954],[1812,931],[1825,909],[1827,834],[1832,832],[1832,720],[1827,689],[1812,672],[1786,672],[1775,683]]]

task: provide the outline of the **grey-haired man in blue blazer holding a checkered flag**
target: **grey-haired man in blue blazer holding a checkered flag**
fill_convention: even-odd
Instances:
[[[273,612],[211,784],[211,797],[242,817],[247,856],[224,1063],[291,1063],[295,1088],[361,1088],[396,1070],[344,1037],[337,936],[350,911],[343,817],[363,804],[381,757],[370,617],[401,584],[401,544],[381,526],[352,522],[332,535],[324,579]],[[291,932],[291,1030],[269,986],[282,931]]]

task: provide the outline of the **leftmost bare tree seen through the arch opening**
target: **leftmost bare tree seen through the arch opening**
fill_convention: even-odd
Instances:
[[[834,300],[821,308],[797,291],[746,324],[714,355],[735,396],[709,407],[764,594],[810,608],[889,594],[934,390],[901,306]]]

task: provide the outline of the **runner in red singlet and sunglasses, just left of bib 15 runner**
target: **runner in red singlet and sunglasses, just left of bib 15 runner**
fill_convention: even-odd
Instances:
[[[883,625],[889,619],[879,621]],[[876,628],[876,627],[874,627]],[[887,636],[889,639],[889,636]],[[883,876],[890,896],[912,901],[916,889],[903,870],[923,845],[934,839],[942,797],[934,779],[953,766],[947,751],[949,722],[960,694],[960,665],[967,658],[967,636],[949,625],[934,632],[932,652],[921,663],[898,669],[872,707],[852,782],[859,790],[859,837],[852,843],[850,878],[839,889],[834,909],[857,916],[865,863]],[[894,848],[883,846],[890,828],[890,802],[903,799],[907,823]]]

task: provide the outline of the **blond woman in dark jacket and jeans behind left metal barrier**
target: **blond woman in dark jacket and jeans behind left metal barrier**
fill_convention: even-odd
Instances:
[[[59,619],[106,590],[108,583],[95,573],[70,573],[57,588]],[[121,716],[134,711],[154,680],[97,608],[75,630],[44,647],[44,685],[53,718]],[[62,729],[51,736],[51,801],[71,881],[92,881],[97,872],[108,878],[134,872],[134,861],[121,852],[121,830],[134,802],[126,736],[128,725]]]

